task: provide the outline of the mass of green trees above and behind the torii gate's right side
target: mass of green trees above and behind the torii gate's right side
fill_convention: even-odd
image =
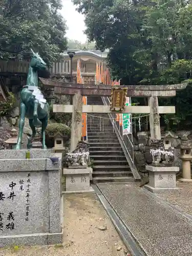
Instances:
[[[192,4],[188,0],[73,0],[85,15],[89,40],[110,49],[112,75],[123,84],[189,82],[176,97],[159,99],[175,105],[164,115],[167,129],[191,127]],[[140,100],[139,100],[140,101]],[[140,101],[141,102],[141,101]],[[143,119],[143,118],[142,118]]]

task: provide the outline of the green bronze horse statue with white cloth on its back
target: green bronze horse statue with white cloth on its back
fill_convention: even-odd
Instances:
[[[31,50],[32,51],[32,50]],[[42,134],[42,149],[46,149],[45,131],[49,119],[49,104],[42,95],[38,88],[38,70],[45,70],[46,63],[38,55],[33,53],[28,76],[27,84],[20,92],[20,120],[19,120],[19,133],[16,144],[16,150],[20,150],[23,137],[23,129],[25,124],[25,117],[29,119],[29,125],[32,130],[32,135],[28,138],[27,148],[31,148],[32,140],[36,135],[36,127],[41,126]]]

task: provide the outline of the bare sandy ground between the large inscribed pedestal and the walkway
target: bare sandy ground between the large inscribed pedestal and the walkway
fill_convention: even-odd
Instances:
[[[95,195],[64,198],[63,245],[0,249],[0,256],[130,255]]]

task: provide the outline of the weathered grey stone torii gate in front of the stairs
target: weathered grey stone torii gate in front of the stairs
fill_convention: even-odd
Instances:
[[[81,138],[82,113],[142,113],[150,114],[150,132],[152,139],[161,139],[159,114],[174,114],[175,106],[159,106],[158,97],[174,97],[176,91],[186,88],[187,83],[165,86],[120,86],[127,88],[127,97],[147,97],[148,106],[125,106],[124,111],[111,111],[106,105],[83,105],[82,95],[111,96],[112,87],[106,85],[78,84],[40,78],[42,84],[54,88],[59,95],[73,95],[73,105],[53,105],[53,112],[73,113],[71,130],[71,148],[73,151]]]

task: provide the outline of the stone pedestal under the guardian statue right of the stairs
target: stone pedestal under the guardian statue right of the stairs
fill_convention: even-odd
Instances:
[[[145,166],[149,174],[150,182],[144,187],[153,193],[161,193],[162,191],[177,189],[176,188],[176,173],[179,172],[179,167],[158,167]]]

